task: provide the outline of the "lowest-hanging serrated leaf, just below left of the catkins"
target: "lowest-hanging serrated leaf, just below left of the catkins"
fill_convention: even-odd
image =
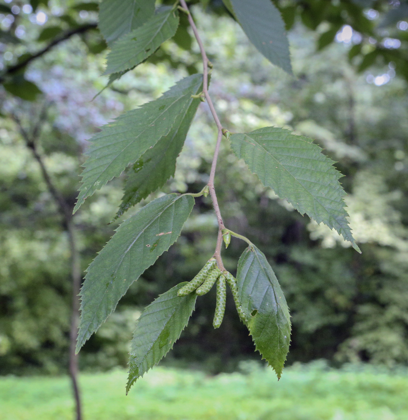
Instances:
[[[145,308],[137,321],[130,350],[126,394],[138,378],[160,362],[187,325],[197,295],[191,293],[178,297],[177,291],[185,284],[187,282],[180,283],[161,294]]]

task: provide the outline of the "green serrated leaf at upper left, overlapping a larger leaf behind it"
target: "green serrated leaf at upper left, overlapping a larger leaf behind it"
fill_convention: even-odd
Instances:
[[[166,8],[152,16],[143,26],[120,37],[106,58],[104,74],[118,73],[135,67],[152,55],[164,41],[174,36],[179,13]]]

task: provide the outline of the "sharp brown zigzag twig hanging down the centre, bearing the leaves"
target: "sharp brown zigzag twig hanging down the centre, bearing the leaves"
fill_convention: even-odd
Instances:
[[[222,221],[220,207],[218,206],[218,200],[217,200],[217,196],[216,196],[216,192],[215,192],[215,188],[214,188],[214,177],[215,177],[215,171],[216,171],[216,167],[217,167],[217,159],[218,159],[218,154],[219,154],[220,145],[221,145],[221,139],[222,139],[222,135],[223,135],[222,134],[222,125],[221,125],[220,119],[218,118],[216,110],[214,108],[213,101],[211,100],[211,97],[208,94],[208,64],[209,64],[209,60],[208,60],[207,54],[205,53],[203,42],[200,38],[200,35],[198,34],[197,26],[195,26],[194,20],[191,16],[191,13],[190,13],[189,9],[188,9],[187,3],[185,2],[185,0],[180,0],[180,4],[182,5],[182,8],[187,12],[188,21],[190,23],[192,31],[194,32],[194,36],[195,36],[195,39],[197,40],[198,46],[200,47],[201,57],[203,58],[203,93],[204,93],[205,99],[207,100],[208,106],[210,107],[211,114],[213,115],[214,121],[215,121],[215,123],[217,125],[217,129],[218,129],[217,143],[216,143],[216,147],[215,147],[215,151],[214,151],[213,163],[211,164],[210,178],[208,180],[208,188],[210,189],[211,199],[213,200],[214,211],[215,211],[215,214],[217,216],[217,221],[218,221],[218,238],[217,238],[216,249],[215,249],[215,252],[214,252],[214,257],[217,261],[218,268],[221,271],[224,271],[225,268],[224,268],[224,264],[223,264],[222,259],[221,259],[221,245],[222,245],[222,232],[221,231],[222,231],[222,229],[224,229],[225,226],[224,226],[224,223]]]

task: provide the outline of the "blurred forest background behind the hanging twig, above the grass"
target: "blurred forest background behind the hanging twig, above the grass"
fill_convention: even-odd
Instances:
[[[406,365],[405,3],[323,2],[338,14],[333,23],[330,14],[317,16],[319,1],[276,2],[290,29],[295,77],[255,50],[220,1],[202,3],[205,12],[198,6],[192,11],[214,65],[210,93],[223,126],[232,132],[273,125],[293,129],[316,139],[345,174],[350,226],[361,255],[263,187],[226,144],[221,150],[216,188],[226,223],[262,247],[291,310],[287,364],[326,359],[334,366],[358,361]],[[308,20],[305,5],[311,5],[309,14],[315,21]],[[347,15],[344,5],[355,9]],[[174,41],[166,41],[152,58],[92,100],[107,82],[100,77],[106,45],[95,30],[95,7],[92,2],[56,0],[0,4],[1,375],[65,372],[71,312],[68,236],[13,116],[27,131],[37,127],[47,171],[66,201],[74,203],[82,152],[95,127],[160,96],[200,69],[199,51],[182,20]],[[391,19],[397,9],[397,18]],[[400,20],[404,10],[405,20]],[[385,18],[389,21],[384,23]],[[353,29],[358,19],[363,22],[361,32]],[[40,58],[10,72],[25,63],[27,52],[33,56],[70,32]],[[200,191],[208,181],[215,139],[203,103],[174,178],[126,217],[164,193]],[[121,219],[110,222],[124,178],[95,192],[73,218],[83,271],[120,223]],[[125,367],[143,307],[175,284],[189,281],[211,256],[216,218],[209,198],[200,197],[197,203],[177,243],[131,286],[116,312],[85,344],[82,370]],[[224,252],[227,269],[234,271],[244,247],[232,239]],[[209,293],[197,302],[164,364],[219,373],[236,370],[242,360],[260,359],[231,297],[221,328],[213,330],[214,300]]]

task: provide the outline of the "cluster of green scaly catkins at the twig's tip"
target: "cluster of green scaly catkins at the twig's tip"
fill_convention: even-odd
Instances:
[[[214,283],[217,282],[217,298],[216,298],[216,309],[214,314],[213,326],[219,328],[224,318],[225,302],[226,302],[226,283],[232,291],[234,297],[235,306],[237,307],[238,314],[242,321],[245,322],[245,313],[238,298],[238,287],[234,276],[228,271],[221,273],[221,270],[216,266],[215,258],[208,260],[200,272],[195,276],[192,281],[187,283],[177,292],[177,296],[186,296],[187,294],[195,291],[199,296],[203,296],[208,293],[213,287]]]

